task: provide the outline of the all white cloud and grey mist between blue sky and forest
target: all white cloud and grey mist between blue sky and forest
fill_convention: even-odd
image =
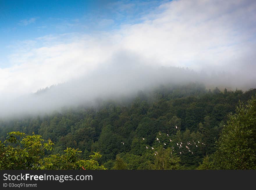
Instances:
[[[23,41],[10,55],[12,66],[0,68],[0,114],[51,110],[168,81],[255,88],[255,18],[255,1],[171,1],[118,30]],[[170,76],[161,66],[194,71],[173,68]]]

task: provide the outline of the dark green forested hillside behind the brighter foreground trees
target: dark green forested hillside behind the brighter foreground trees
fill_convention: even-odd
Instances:
[[[159,86],[139,91],[132,100],[99,100],[97,107],[81,105],[43,117],[1,120],[0,140],[10,131],[34,132],[54,142],[51,154],[72,147],[86,159],[99,151],[99,163],[108,169],[117,163],[122,169],[158,169],[155,157],[166,150],[180,168],[195,169],[216,151],[228,113],[234,113],[239,100],[247,102],[255,94],[256,89],[211,91],[195,83]]]

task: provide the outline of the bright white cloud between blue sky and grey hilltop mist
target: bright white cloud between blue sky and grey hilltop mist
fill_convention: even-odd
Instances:
[[[171,1],[142,18],[142,23],[124,23],[120,30],[48,35],[29,41],[31,46],[22,46],[10,56],[13,66],[0,69],[0,93],[35,92],[79,79],[113,62],[129,64],[116,59],[120,51],[127,52],[124,59],[138,55],[131,59],[135,63],[141,59],[148,65],[239,73],[234,81],[255,80],[255,1]]]

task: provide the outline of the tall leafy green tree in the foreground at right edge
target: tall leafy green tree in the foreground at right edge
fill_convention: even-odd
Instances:
[[[217,142],[217,169],[256,169],[256,96],[228,117]]]

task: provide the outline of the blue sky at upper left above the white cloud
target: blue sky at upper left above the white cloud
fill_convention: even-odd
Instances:
[[[0,68],[17,43],[47,35],[115,30],[167,1],[0,1]]]

